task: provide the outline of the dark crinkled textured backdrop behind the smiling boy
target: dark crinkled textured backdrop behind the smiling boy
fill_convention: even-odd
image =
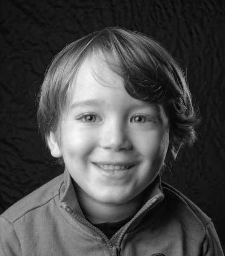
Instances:
[[[163,180],[209,215],[225,245],[225,1],[1,0],[0,213],[61,174],[37,130],[43,74],[66,44],[105,26],[153,35],[187,70],[199,141]]]

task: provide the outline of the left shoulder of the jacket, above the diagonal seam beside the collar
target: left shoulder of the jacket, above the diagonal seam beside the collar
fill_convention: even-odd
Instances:
[[[26,215],[26,213],[39,207],[43,207],[59,195],[62,184],[63,174],[55,177],[48,183],[13,204],[9,209],[3,212],[0,217],[6,219],[8,222],[14,223],[14,221]]]

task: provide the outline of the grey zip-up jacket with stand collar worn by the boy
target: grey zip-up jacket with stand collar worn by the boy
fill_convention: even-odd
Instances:
[[[0,216],[0,256],[223,256],[211,219],[159,175],[111,239],[83,215],[64,174]]]

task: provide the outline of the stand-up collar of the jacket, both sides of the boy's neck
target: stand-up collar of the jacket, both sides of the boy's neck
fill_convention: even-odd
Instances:
[[[80,204],[78,202],[76,192],[74,190],[72,178],[69,172],[66,170],[66,168],[64,171],[63,179],[64,179],[64,182],[60,188],[61,206],[63,205],[68,206],[77,215],[80,215],[80,217],[85,218],[85,215],[83,214],[80,208]],[[148,212],[151,208],[154,207],[154,204],[152,204],[152,202],[155,201],[155,198],[157,198],[157,201],[154,203],[155,205],[164,199],[164,195],[162,193],[160,175],[157,175],[155,180],[145,189],[145,199],[144,199],[142,208],[136,214],[137,216],[139,216],[139,218],[143,213],[145,215],[146,212]]]

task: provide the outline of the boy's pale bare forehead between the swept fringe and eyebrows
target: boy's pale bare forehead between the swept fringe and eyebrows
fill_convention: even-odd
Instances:
[[[71,104],[89,99],[111,99],[115,94],[130,97],[124,88],[124,79],[109,69],[102,58],[85,58],[72,85]]]

